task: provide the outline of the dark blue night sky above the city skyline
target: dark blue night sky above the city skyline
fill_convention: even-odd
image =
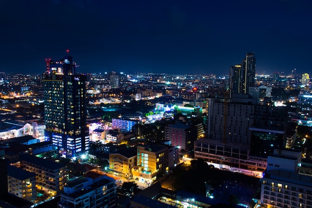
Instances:
[[[80,72],[310,72],[311,0],[0,0],[0,71],[43,73],[70,49]]]

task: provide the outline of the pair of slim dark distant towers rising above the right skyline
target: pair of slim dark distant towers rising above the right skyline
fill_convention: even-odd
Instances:
[[[256,57],[248,52],[241,65],[230,69],[230,98],[233,94],[248,94],[249,87],[255,86]]]

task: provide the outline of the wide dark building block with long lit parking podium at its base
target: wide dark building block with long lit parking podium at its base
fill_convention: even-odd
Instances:
[[[208,138],[195,141],[195,158],[260,178],[267,156],[286,147],[287,112],[285,107],[253,105],[246,96],[235,95],[228,102],[209,99]]]

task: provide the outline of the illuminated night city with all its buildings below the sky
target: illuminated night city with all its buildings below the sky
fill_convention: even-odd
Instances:
[[[0,74],[1,207],[310,208],[310,74]],[[240,190],[238,192],[238,190]]]

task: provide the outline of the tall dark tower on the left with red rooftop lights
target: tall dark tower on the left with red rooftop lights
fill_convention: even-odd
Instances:
[[[76,74],[72,56],[46,60],[43,74],[45,140],[62,157],[84,154],[89,146],[86,125],[86,75]]]

